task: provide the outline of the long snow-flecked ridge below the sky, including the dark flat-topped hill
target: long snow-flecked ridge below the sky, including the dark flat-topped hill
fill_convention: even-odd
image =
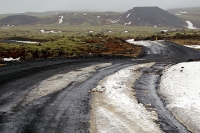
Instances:
[[[196,18],[198,19],[198,18]],[[134,7],[126,13],[117,12],[44,12],[4,17],[0,25],[113,25],[184,28],[185,19],[159,7]],[[198,24],[198,23],[195,23]]]

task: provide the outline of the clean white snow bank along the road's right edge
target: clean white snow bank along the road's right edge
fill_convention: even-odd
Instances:
[[[194,133],[200,132],[200,62],[174,65],[163,72],[160,93],[166,107]]]

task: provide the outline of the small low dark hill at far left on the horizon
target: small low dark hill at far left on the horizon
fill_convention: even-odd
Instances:
[[[1,25],[23,25],[23,24],[36,24],[39,19],[35,16],[29,15],[13,15],[7,16],[0,20]]]

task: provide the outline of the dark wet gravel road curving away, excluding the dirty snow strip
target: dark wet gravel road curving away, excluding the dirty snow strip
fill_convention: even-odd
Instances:
[[[0,132],[90,132],[90,90],[122,68],[149,62],[156,63],[142,70],[134,84],[137,100],[156,108],[162,131],[189,132],[165,108],[157,88],[165,66],[200,58],[200,53],[170,42],[145,44],[144,56],[134,60],[55,59],[0,67]]]

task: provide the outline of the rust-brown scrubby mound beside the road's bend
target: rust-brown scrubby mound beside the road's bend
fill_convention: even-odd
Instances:
[[[138,57],[142,53],[140,46],[132,45],[117,37],[90,38],[85,42],[97,48],[88,50],[88,53],[96,55]]]

